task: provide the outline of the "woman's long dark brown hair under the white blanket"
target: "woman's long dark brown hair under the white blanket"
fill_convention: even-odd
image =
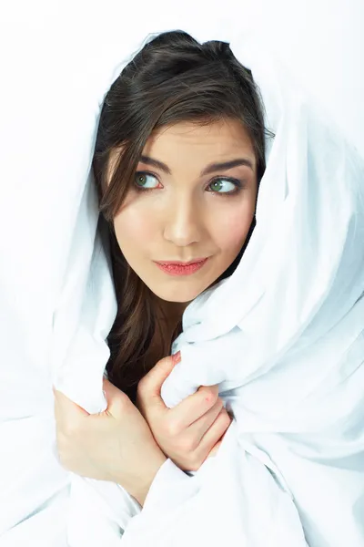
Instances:
[[[150,344],[157,333],[157,298],[126,263],[113,220],[120,209],[152,131],[181,121],[199,125],[238,119],[248,131],[257,158],[257,180],[265,170],[264,113],[251,72],[226,42],[199,44],[176,30],[155,36],[136,54],[106,94],[96,137],[94,173],[101,222],[106,222],[116,288],[116,321],[107,338],[108,377],[132,400],[151,366]],[[116,163],[109,177],[110,152]],[[110,178],[108,181],[107,178]],[[227,271],[232,274],[248,244]],[[179,332],[180,325],[174,336]],[[170,353],[173,340],[161,336],[157,360]],[[154,356],[155,357],[155,356]]]

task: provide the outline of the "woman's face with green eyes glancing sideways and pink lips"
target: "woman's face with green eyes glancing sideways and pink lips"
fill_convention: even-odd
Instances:
[[[117,242],[154,294],[188,303],[238,256],[256,197],[255,154],[238,121],[158,129],[116,215]]]

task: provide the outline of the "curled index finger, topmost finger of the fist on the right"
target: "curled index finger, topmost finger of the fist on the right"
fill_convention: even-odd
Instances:
[[[201,386],[196,393],[186,397],[176,407],[170,408],[169,418],[175,423],[176,428],[188,428],[217,403],[217,398],[218,385]]]

